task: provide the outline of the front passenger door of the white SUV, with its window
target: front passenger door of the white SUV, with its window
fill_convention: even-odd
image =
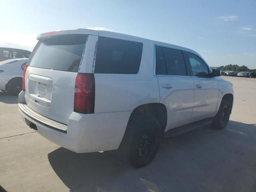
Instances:
[[[210,118],[214,115],[218,103],[218,80],[208,76],[210,68],[199,56],[190,52],[185,52],[185,55],[195,88],[193,121]]]

